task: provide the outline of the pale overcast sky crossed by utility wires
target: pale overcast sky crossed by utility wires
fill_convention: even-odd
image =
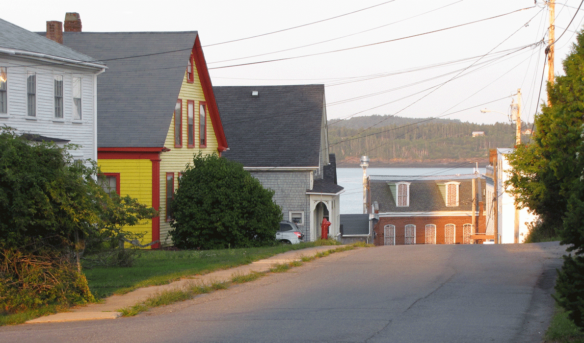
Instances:
[[[584,0],[559,1],[555,75],[584,21]],[[324,84],[329,120],[509,122],[520,89],[522,121],[533,122],[547,97],[549,11],[541,0],[145,3],[11,1],[0,17],[30,31],[66,12],[79,13],[83,31],[196,30],[214,86]]]

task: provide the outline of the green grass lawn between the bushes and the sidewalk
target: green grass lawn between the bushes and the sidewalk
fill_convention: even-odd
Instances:
[[[249,264],[289,250],[333,245],[334,242],[317,241],[225,250],[144,250],[133,267],[94,268],[86,269],[84,273],[93,295],[102,298],[124,294],[145,286],[164,285],[192,275]]]

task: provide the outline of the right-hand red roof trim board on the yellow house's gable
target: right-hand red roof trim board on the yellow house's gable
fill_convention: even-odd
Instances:
[[[215,93],[213,93],[213,85],[211,84],[211,76],[207,69],[207,62],[205,61],[205,56],[203,54],[203,48],[201,47],[201,42],[199,40],[199,34],[194,40],[193,47],[193,59],[194,65],[199,73],[199,81],[201,82],[201,87],[203,88],[203,95],[207,101],[207,111],[213,123],[213,129],[215,131],[215,137],[217,137],[217,150],[225,151],[227,150],[227,138],[225,138],[225,132],[223,131],[223,123],[221,122],[221,116],[219,114],[219,108],[217,107],[217,101],[215,100]]]

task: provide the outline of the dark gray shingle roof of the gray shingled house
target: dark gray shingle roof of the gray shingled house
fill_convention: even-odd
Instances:
[[[213,92],[230,148],[221,156],[245,167],[318,167],[324,85],[215,86]]]

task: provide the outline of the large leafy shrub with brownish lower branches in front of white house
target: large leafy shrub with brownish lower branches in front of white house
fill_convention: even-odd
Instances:
[[[0,129],[0,311],[93,300],[79,262],[84,241],[93,251],[119,247],[124,225],[155,215],[110,197],[93,179],[95,163],[68,155],[74,148]]]

